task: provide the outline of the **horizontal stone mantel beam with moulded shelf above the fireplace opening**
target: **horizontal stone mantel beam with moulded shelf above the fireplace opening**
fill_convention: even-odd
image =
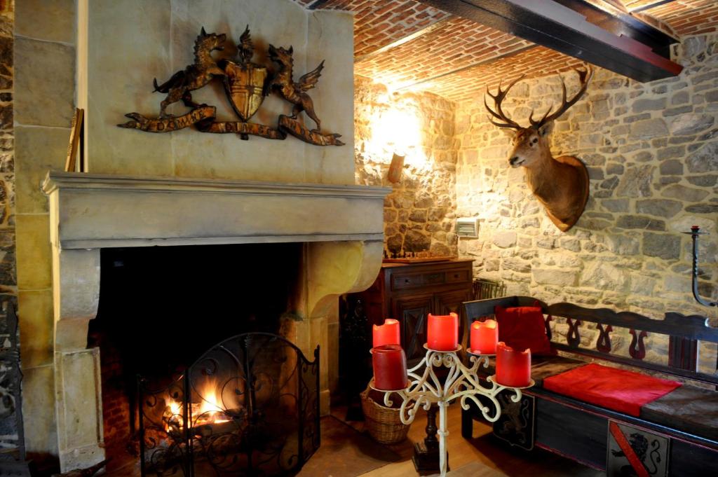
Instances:
[[[50,172],[61,249],[383,240],[384,187]]]

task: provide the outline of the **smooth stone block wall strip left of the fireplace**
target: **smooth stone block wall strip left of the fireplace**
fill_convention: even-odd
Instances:
[[[75,1],[18,1],[14,43],[17,285],[28,453],[57,454],[52,259],[40,182],[65,165],[75,104]],[[28,417],[32,417],[29,421]]]

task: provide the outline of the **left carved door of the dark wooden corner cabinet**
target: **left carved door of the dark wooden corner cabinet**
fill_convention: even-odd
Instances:
[[[433,302],[432,295],[393,300],[394,316],[401,322],[401,346],[408,362],[418,362],[424,356],[426,316],[432,311]]]

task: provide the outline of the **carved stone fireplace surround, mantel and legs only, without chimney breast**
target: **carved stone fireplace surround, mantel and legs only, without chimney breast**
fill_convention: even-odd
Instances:
[[[381,267],[391,189],[50,172],[55,421],[60,468],[104,456],[99,349],[88,323],[100,298],[103,247],[304,242],[297,320],[288,336],[327,349],[337,296],[368,288]],[[325,356],[325,355],[322,355]],[[327,367],[320,375],[329,409]]]

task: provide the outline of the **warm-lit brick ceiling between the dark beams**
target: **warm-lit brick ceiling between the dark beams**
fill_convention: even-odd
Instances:
[[[416,0],[294,1],[308,9],[353,11],[355,73],[393,90],[428,90],[449,100],[469,100],[500,79],[540,77],[580,63]],[[717,0],[610,3],[651,23],[657,19],[678,35],[718,31]]]

